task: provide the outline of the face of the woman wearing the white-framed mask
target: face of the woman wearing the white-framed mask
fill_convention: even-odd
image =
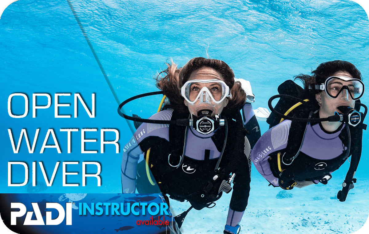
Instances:
[[[200,79],[200,80],[218,79],[220,81],[224,81],[222,75],[219,72],[217,72],[215,69],[210,68],[210,67],[202,67],[202,68],[199,68],[193,71],[189,77],[189,81],[193,79]],[[208,88],[208,90],[211,92],[211,95],[213,96],[215,100],[220,99],[220,97],[218,97],[220,95],[218,94],[219,87],[214,85],[214,83],[197,83],[193,89],[193,92],[191,93],[191,96],[190,96],[191,101],[192,101],[191,98],[193,99],[196,98],[197,96],[196,91],[200,91],[203,87]],[[227,104],[228,104],[228,98],[225,98],[219,104],[214,104],[213,101],[210,101],[210,103],[200,102],[200,99],[198,99],[194,104],[189,104],[186,100],[184,100],[184,105],[188,107],[191,114],[196,115],[196,116],[197,116],[197,112],[204,110],[204,109],[208,109],[212,111],[211,113],[212,116],[216,114],[220,114],[223,111],[223,108],[227,106]]]

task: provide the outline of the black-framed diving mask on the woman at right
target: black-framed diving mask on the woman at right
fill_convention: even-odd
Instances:
[[[350,84],[346,82],[350,82]],[[327,95],[331,98],[337,98],[338,95],[345,90],[346,98],[350,95],[352,100],[357,100],[364,94],[364,83],[360,79],[328,77],[324,84],[315,85],[315,89],[325,90]]]

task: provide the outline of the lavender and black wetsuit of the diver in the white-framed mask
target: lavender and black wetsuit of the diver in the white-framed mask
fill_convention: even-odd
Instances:
[[[251,132],[250,136],[245,137],[244,142],[244,153],[247,157],[247,162],[243,163],[242,170],[238,170],[236,173],[235,181],[238,177],[239,180],[242,178],[242,181],[239,183],[235,183],[232,191],[232,198],[230,203],[230,209],[228,211],[227,224],[231,226],[235,226],[239,224],[241,221],[244,210],[247,206],[247,200],[249,196],[249,182],[250,182],[250,172],[251,172],[251,161],[250,161],[250,144],[248,138],[252,139],[251,142],[257,141],[260,137],[260,129],[259,125],[256,121],[256,117],[254,111],[252,109],[251,104],[246,103],[243,108],[244,113],[244,126],[249,128]],[[156,113],[151,116],[150,119],[161,119],[161,120],[170,120],[173,113],[173,109],[167,109],[161,112]],[[210,133],[208,135],[202,135],[198,133],[196,130],[193,130],[192,127],[189,128],[187,132],[187,144],[185,146],[184,155],[188,157],[190,160],[195,160],[199,164],[204,163],[204,155],[206,150],[208,150],[208,159],[218,159],[220,156],[220,151],[217,149],[217,146],[213,142],[211,136],[214,135]],[[228,134],[232,134],[231,130],[228,131]],[[169,142],[169,125],[165,124],[151,124],[151,123],[142,123],[141,126],[134,133],[134,136],[131,138],[130,142],[128,142],[123,149],[123,159],[121,165],[121,179],[122,179],[122,189],[123,193],[134,193],[135,185],[136,185],[136,175],[137,175],[137,163],[140,159],[140,155],[144,152],[141,150],[140,143],[142,140],[155,136]],[[253,137],[254,136],[254,137]],[[227,142],[228,144],[228,142]],[[252,146],[253,146],[252,144]],[[179,145],[178,147],[183,147],[183,145]],[[219,147],[218,147],[219,148]],[[168,156],[165,156],[168,157]],[[142,156],[141,156],[142,159]],[[190,166],[185,167],[183,165],[177,169],[178,171],[185,172],[181,174],[181,179],[186,181],[186,176],[189,178],[189,183],[183,184],[181,188],[190,185],[190,179],[193,178],[194,173],[199,173],[198,177],[201,178],[203,174],[208,172],[192,172],[193,168]],[[241,166],[240,166],[241,167]],[[183,178],[182,178],[183,177]],[[203,178],[204,180],[208,180],[209,178]],[[190,187],[189,187],[190,189]]]

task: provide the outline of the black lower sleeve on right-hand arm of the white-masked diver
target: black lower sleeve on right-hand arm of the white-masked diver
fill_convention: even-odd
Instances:
[[[247,150],[247,147],[250,147],[248,144],[247,139],[245,139],[245,152],[247,155],[244,155],[241,164],[235,172],[236,176],[233,181],[233,191],[230,202],[230,208],[240,212],[246,209],[250,194],[251,159],[249,150]]]

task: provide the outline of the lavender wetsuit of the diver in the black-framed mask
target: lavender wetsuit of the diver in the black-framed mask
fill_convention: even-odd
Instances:
[[[273,153],[280,152],[285,149],[289,140],[291,121],[285,120],[282,123],[270,128],[256,142],[251,153],[251,161],[258,172],[268,180],[273,186],[278,185],[278,178],[273,176],[272,169],[269,164],[269,157]],[[306,132],[300,153],[303,153],[313,159],[331,160],[339,157],[347,149],[342,143],[338,135],[344,129],[344,125],[333,133],[328,133],[322,129],[320,124],[313,126],[310,123],[306,126]],[[303,134],[303,132],[301,132]],[[293,139],[290,139],[293,140]],[[320,170],[315,165],[315,170]],[[317,183],[317,180],[314,180]]]

